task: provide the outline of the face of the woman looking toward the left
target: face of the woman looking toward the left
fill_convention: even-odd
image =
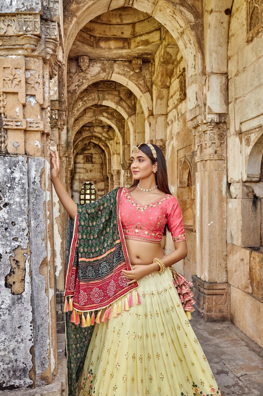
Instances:
[[[144,154],[141,150],[135,153],[132,152],[131,156],[131,171],[133,179],[142,180],[151,175],[154,175],[154,170],[157,170],[157,163],[152,165],[150,158]]]

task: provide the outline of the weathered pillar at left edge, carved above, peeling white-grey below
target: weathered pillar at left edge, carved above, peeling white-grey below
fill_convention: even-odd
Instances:
[[[62,64],[59,16],[4,2],[0,16],[0,390],[57,372],[49,79]],[[34,10],[34,11],[32,11]],[[47,14],[48,13],[48,14]],[[21,272],[22,271],[22,272]],[[13,318],[10,320],[10,318]],[[2,334],[4,332],[4,335]],[[9,351],[13,353],[10,354]],[[8,369],[7,369],[8,368]],[[41,393],[41,392],[40,392]]]

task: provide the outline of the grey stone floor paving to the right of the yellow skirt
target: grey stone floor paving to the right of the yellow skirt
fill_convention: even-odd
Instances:
[[[194,316],[191,324],[222,396],[262,396],[263,349],[231,322],[204,322]]]

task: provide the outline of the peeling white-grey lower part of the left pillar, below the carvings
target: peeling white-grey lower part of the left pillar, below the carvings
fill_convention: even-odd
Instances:
[[[0,247],[1,387],[5,389],[51,381],[56,373],[56,318],[45,226],[51,209],[49,165],[43,158],[25,156],[0,160],[5,230]]]

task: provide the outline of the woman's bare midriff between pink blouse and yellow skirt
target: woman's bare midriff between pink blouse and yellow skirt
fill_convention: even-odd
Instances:
[[[125,242],[131,265],[150,264],[154,257],[162,259],[164,256],[161,244],[128,238]]]

